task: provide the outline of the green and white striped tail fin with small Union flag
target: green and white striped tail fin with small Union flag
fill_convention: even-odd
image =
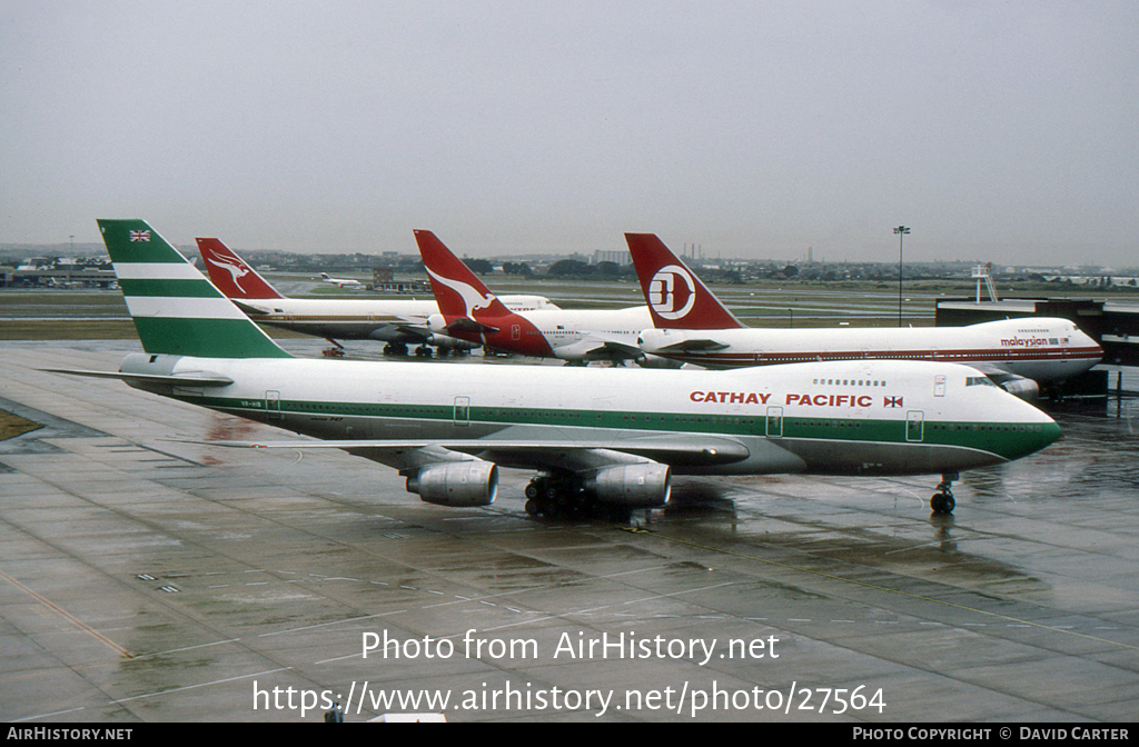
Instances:
[[[99,231],[146,352],[292,358],[146,221],[100,220]]]

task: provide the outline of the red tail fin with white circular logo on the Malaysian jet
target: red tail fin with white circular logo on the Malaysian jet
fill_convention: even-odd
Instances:
[[[625,233],[625,241],[656,327],[732,329],[744,326],[656,233]]]

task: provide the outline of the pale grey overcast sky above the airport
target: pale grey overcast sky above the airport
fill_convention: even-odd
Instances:
[[[0,241],[1139,264],[1139,3],[0,0]]]

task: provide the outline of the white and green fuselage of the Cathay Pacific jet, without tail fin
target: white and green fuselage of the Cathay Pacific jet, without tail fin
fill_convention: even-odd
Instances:
[[[229,377],[224,387],[134,385],[326,440],[480,440],[503,466],[548,465],[558,444],[598,453],[649,444],[640,452],[650,453],[653,443],[683,442],[740,453],[704,463],[662,446],[658,461],[696,474],[932,474],[1016,459],[1059,434],[1031,404],[953,364],[456,366],[133,354],[122,370]]]

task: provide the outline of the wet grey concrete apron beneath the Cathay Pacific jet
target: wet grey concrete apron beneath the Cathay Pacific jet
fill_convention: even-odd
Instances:
[[[771,476],[618,525],[527,517],[523,471],[448,509],[339,452],[185,443],[280,432],[36,370],[128,350],[0,347],[0,409],[46,426],[0,442],[5,721],[1136,717],[1133,402],[1058,414],[950,517],[935,476]]]

